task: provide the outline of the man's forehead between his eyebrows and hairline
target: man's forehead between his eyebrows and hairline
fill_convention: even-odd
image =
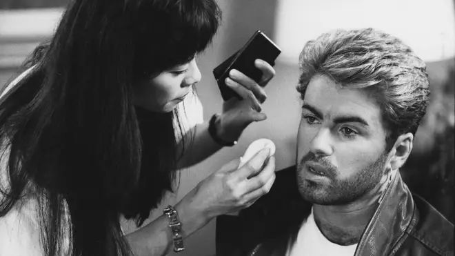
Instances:
[[[376,101],[359,89],[341,88],[325,76],[314,77],[305,91],[303,104],[312,106],[325,118],[362,117],[368,123],[381,119]]]

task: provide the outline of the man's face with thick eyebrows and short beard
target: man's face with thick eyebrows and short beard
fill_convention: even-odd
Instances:
[[[362,90],[314,77],[303,99],[297,180],[307,201],[349,204],[383,177],[387,152],[381,110]]]

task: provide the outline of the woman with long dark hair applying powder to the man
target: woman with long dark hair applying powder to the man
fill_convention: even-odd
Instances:
[[[143,224],[175,170],[265,119],[255,110],[274,70],[257,61],[261,83],[239,73],[228,81],[244,100],[176,139],[176,106],[201,79],[194,57],[219,20],[211,0],[70,3],[0,101],[0,255],[163,255],[270,190],[274,158],[263,150],[239,170],[239,160],[226,164],[150,224],[121,231],[121,216]]]

